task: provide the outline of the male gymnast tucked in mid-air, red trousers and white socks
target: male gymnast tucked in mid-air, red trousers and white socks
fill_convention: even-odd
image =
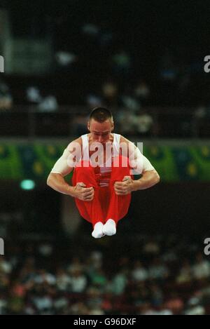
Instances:
[[[139,148],[113,133],[113,128],[109,109],[93,109],[87,121],[90,133],[70,142],[47,181],[55,191],[75,199],[80,215],[92,224],[95,239],[116,234],[118,221],[130,206],[131,192],[148,189],[160,181]],[[64,176],[72,170],[69,185]],[[133,170],[141,174],[139,180],[133,179]]]

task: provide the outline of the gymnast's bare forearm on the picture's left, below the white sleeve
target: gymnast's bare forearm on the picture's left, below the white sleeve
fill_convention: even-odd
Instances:
[[[64,177],[60,174],[50,173],[47,184],[55,191],[73,196],[73,187],[65,182]]]

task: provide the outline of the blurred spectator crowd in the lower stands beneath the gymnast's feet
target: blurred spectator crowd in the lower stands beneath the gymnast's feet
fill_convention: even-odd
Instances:
[[[209,314],[210,262],[202,241],[132,240],[125,255],[113,250],[123,243],[117,237],[90,250],[84,239],[57,247],[10,243],[0,257],[0,314]]]

